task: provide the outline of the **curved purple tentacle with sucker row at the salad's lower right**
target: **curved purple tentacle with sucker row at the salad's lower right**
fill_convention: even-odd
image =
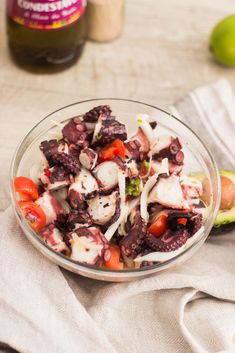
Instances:
[[[178,230],[176,232],[172,232],[168,229],[161,239],[148,233],[145,242],[153,251],[169,252],[179,249],[186,243],[189,237],[190,234],[187,229]]]

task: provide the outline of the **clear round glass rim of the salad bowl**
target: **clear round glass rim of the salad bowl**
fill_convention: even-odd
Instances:
[[[36,232],[33,231],[33,229],[28,225],[28,223],[26,222],[26,220],[22,217],[21,211],[19,209],[19,206],[17,205],[17,203],[15,202],[16,200],[16,193],[15,190],[13,188],[13,180],[15,178],[14,176],[14,169],[15,169],[15,163],[16,163],[16,159],[19,153],[19,150],[21,148],[21,146],[24,144],[25,140],[27,140],[27,138],[30,136],[30,134],[34,131],[34,129],[39,126],[41,123],[43,123],[45,120],[47,120],[50,116],[52,116],[53,114],[60,112],[62,110],[65,110],[66,108],[70,108],[73,107],[75,105],[79,105],[82,103],[91,103],[91,102],[99,102],[99,101],[123,101],[123,102],[130,102],[130,103],[137,103],[143,106],[147,106],[149,108],[153,108],[154,110],[158,110],[161,111],[162,113],[168,115],[171,119],[175,119],[176,121],[178,121],[180,124],[184,125],[184,127],[186,129],[188,129],[195,137],[196,139],[200,142],[200,144],[203,146],[203,148],[206,150],[210,162],[214,168],[214,173],[215,173],[215,177],[216,177],[216,186],[217,186],[217,198],[215,200],[215,205],[212,211],[212,214],[210,215],[210,222],[208,222],[207,225],[207,229],[204,229],[204,234],[203,236],[198,239],[197,241],[195,241],[191,246],[189,246],[186,250],[184,250],[182,253],[178,254],[177,256],[173,257],[172,259],[169,259],[167,261],[161,262],[161,263],[157,263],[155,265],[152,266],[148,266],[148,267],[142,267],[142,268],[138,268],[138,269],[125,269],[125,270],[110,270],[110,269],[105,269],[105,268],[99,268],[96,267],[94,265],[88,265],[88,264],[83,264],[83,263],[78,263],[70,258],[68,258],[66,255],[63,255],[61,253],[56,253],[54,250],[52,250],[42,239],[39,238],[39,236],[37,235]],[[32,243],[35,245],[35,243],[38,243],[38,245],[41,244],[42,247],[45,248],[45,252],[47,254],[49,254],[50,258],[53,258],[55,260],[55,262],[57,262],[57,264],[59,264],[60,266],[69,269],[70,271],[73,272],[77,272],[77,273],[82,273],[83,275],[89,277],[90,272],[93,273],[93,275],[95,276],[95,274],[97,275],[97,278],[99,279],[100,275],[107,277],[107,280],[109,278],[109,276],[112,277],[117,277],[118,278],[128,278],[128,277],[132,277],[132,275],[134,275],[135,277],[138,277],[138,274],[145,274],[147,275],[151,275],[155,272],[158,272],[160,270],[164,270],[169,268],[171,265],[174,264],[174,262],[177,262],[177,260],[181,257],[183,257],[183,255],[188,254],[189,252],[191,252],[194,248],[197,247],[197,245],[199,244],[203,244],[204,241],[206,240],[206,238],[209,235],[209,232],[214,224],[214,220],[215,217],[218,213],[219,210],[219,205],[220,205],[220,196],[221,196],[221,185],[220,185],[220,177],[219,177],[219,171],[218,171],[218,167],[216,165],[216,162],[214,160],[214,157],[212,156],[211,152],[208,150],[208,148],[206,147],[206,145],[204,144],[204,142],[201,140],[201,138],[183,121],[181,121],[180,119],[178,119],[177,117],[175,117],[173,114],[167,112],[164,109],[158,108],[152,104],[148,104],[148,103],[144,103],[141,101],[137,101],[137,100],[133,100],[133,99],[123,99],[123,98],[94,98],[94,99],[86,99],[86,100],[82,100],[82,101],[78,101],[78,102],[74,102],[71,104],[68,104],[66,106],[63,106],[59,109],[56,109],[55,111],[51,112],[50,114],[48,114],[47,116],[45,116],[43,119],[41,119],[37,124],[35,124],[29,131],[28,133],[21,139],[21,141],[19,142],[15,153],[13,155],[12,158],[12,162],[11,162],[11,166],[10,166],[10,180],[9,180],[9,189],[10,189],[10,196],[11,196],[11,203],[13,205],[13,209],[16,215],[16,218],[18,220],[18,222],[20,223],[21,228],[23,229],[24,232],[27,232],[28,236],[31,237]],[[41,248],[41,252],[42,248]],[[45,253],[43,252],[43,254],[45,255]],[[73,270],[70,269],[70,266],[73,267]],[[141,276],[142,277],[142,276]]]

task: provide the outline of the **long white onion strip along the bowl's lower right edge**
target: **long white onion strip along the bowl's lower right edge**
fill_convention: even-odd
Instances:
[[[141,263],[143,261],[154,261],[154,262],[164,262],[172,259],[173,257],[181,254],[183,251],[188,249],[194,242],[198,241],[204,231],[204,227],[201,227],[192,237],[188,238],[186,243],[182,245],[179,249],[169,252],[155,251],[144,256],[139,256],[134,259],[134,262]]]

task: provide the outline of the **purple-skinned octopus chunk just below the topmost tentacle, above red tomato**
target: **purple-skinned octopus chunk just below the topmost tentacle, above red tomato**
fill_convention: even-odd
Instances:
[[[96,137],[95,144],[104,146],[116,139],[125,141],[127,139],[126,125],[119,123],[114,117],[102,118],[101,128]]]

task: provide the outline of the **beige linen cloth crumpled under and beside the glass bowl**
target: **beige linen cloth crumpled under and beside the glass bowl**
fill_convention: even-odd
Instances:
[[[220,166],[235,168],[235,100],[227,81],[199,88],[171,109],[191,118],[213,151],[219,147]],[[23,353],[235,352],[234,301],[235,232],[210,237],[167,272],[102,283],[44,258],[11,209],[0,218],[2,352],[6,345]]]

